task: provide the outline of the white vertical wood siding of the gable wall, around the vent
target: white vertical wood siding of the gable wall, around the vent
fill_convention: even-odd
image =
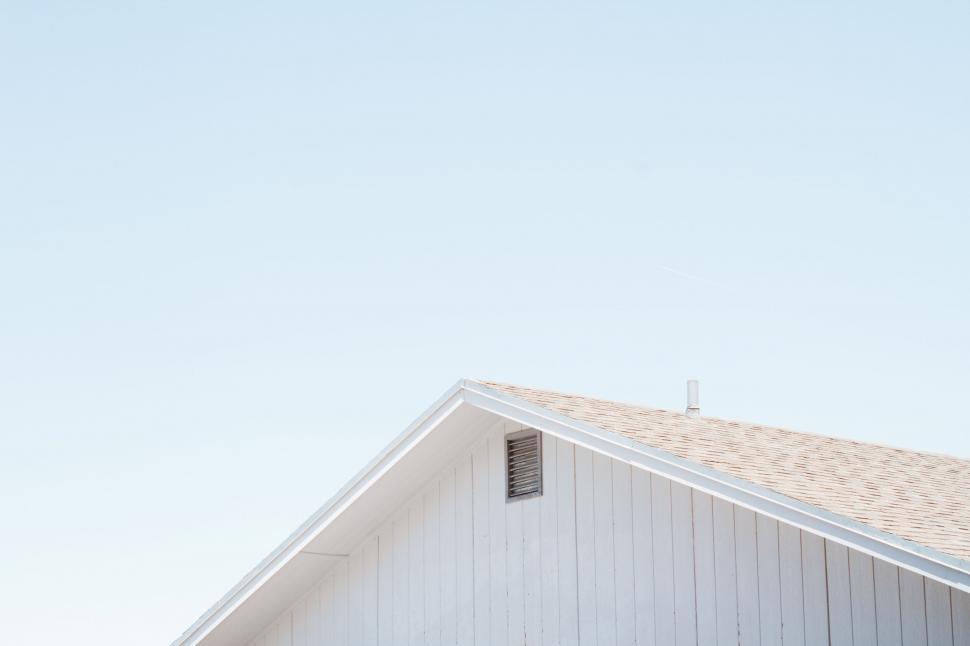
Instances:
[[[970,646],[970,595],[543,437],[492,429],[252,646]]]

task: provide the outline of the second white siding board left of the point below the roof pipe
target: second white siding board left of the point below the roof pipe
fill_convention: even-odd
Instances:
[[[670,480],[650,477],[653,531],[654,628],[658,646],[674,644],[674,547]]]

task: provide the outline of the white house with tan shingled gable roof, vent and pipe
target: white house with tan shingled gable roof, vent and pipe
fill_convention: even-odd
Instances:
[[[461,381],[175,644],[970,645],[970,460]]]

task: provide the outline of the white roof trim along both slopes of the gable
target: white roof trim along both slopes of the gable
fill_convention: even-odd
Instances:
[[[172,646],[195,646],[462,403],[468,403],[622,462],[729,500],[840,544],[970,592],[970,563],[770,489],[604,431],[476,381],[461,380],[250,571]]]

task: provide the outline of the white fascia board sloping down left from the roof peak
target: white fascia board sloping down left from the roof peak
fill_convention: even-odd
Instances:
[[[464,401],[465,380],[458,381],[444,395],[398,435],[377,457],[361,469],[340,491],[296,531],[253,568],[212,608],[205,612],[172,646],[195,646],[229,617],[284,565],[300,553],[361,494],[407,454],[428,433],[443,422]]]

